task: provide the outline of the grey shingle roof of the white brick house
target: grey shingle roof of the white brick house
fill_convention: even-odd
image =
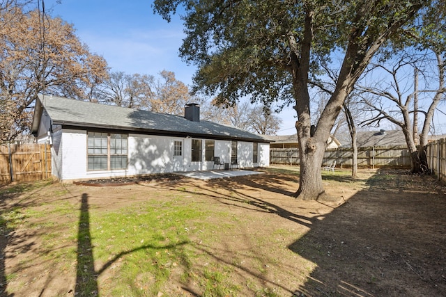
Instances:
[[[36,114],[33,119],[33,133],[36,133],[38,129],[36,125],[40,122],[40,107],[42,106],[40,102],[43,102],[43,108],[52,119],[54,125],[118,129],[159,135],[200,136],[203,138],[270,142],[258,134],[206,120],[192,122],[179,115],[153,113],[151,111],[128,109],[48,95],[39,95],[39,102],[36,103]],[[38,111],[40,111],[40,115],[38,115]],[[36,123],[36,121],[38,122]]]

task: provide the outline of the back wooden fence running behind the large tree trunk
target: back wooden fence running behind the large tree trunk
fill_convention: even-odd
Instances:
[[[325,151],[323,166],[336,161],[337,167],[353,165],[351,148],[336,148]],[[298,148],[271,148],[270,163],[299,165]],[[410,153],[405,146],[360,147],[357,152],[357,166],[367,168],[391,167],[410,168]]]

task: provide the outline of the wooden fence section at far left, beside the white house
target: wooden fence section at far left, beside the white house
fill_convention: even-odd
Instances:
[[[48,144],[0,145],[0,184],[51,177]]]

